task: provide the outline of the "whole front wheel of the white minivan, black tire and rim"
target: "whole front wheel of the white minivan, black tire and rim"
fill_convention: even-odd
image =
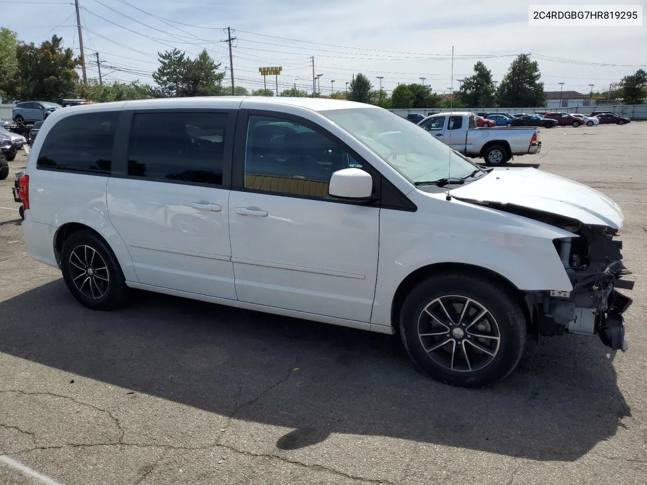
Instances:
[[[450,333],[443,334],[438,339],[435,339],[435,336],[421,336],[421,331],[424,333],[426,329],[432,328],[429,326],[429,322],[436,321],[428,316],[426,308],[430,308],[429,311],[435,314],[433,302],[437,299],[441,299],[441,301],[444,299],[443,305],[447,304],[450,308],[446,314],[454,314],[454,320],[463,318],[460,314],[461,310],[450,304],[452,299],[457,298],[455,296],[468,298],[472,301],[468,305],[473,305],[473,307],[468,306],[465,314],[469,314],[469,318],[473,319],[474,323],[465,325],[458,321],[459,324],[455,325]],[[488,311],[487,315],[481,319],[477,318],[481,312],[479,308],[486,308]],[[472,312],[472,310],[476,310],[476,312]],[[442,318],[440,314],[438,316]],[[492,322],[494,323],[492,324]],[[450,328],[448,325],[443,326]],[[470,327],[473,329],[475,326],[477,327],[476,332],[483,336],[488,333],[488,330],[482,330],[481,327],[496,328],[496,332],[494,330],[492,332],[498,334],[498,341],[492,337],[481,339],[474,337],[476,332],[474,330],[470,332],[467,329]],[[441,333],[445,331],[443,327],[437,328]],[[463,336],[455,339],[456,334]],[[485,387],[507,377],[519,363],[525,346],[526,319],[520,303],[496,281],[488,281],[488,279],[467,272],[437,275],[421,281],[406,297],[400,312],[400,335],[411,359],[417,367],[428,373],[433,379],[459,387]],[[447,338],[446,335],[450,335],[450,338]],[[430,350],[437,345],[438,341],[442,343],[444,339],[460,343],[446,343],[442,347]],[[479,352],[472,343],[488,350],[492,350],[492,346],[496,345],[494,356],[486,352]],[[448,346],[458,350],[460,356],[450,354]],[[470,354],[474,365],[465,363],[470,361],[469,357],[465,358]],[[454,370],[446,367],[449,363],[446,360],[449,355],[454,356],[454,360],[451,362]],[[442,363],[443,359],[445,359],[444,364]],[[487,363],[483,364],[485,361]],[[467,367],[468,365],[470,367]],[[479,367],[480,365],[482,367]]]

